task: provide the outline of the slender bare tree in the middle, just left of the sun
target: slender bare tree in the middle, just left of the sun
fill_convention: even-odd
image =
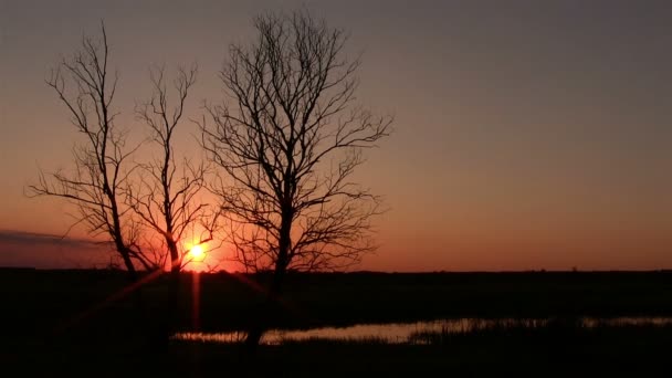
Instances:
[[[170,260],[172,273],[179,273],[189,262],[183,241],[187,237],[202,243],[212,239],[216,217],[207,213],[209,207],[201,201],[206,167],[185,159],[176,162],[175,133],[185,114],[189,90],[196,83],[197,66],[179,67],[174,81],[176,101],[168,101],[164,67],[150,69],[151,97],[136,106],[136,115],[151,132],[151,141],[159,147],[160,157],[140,165],[137,187],[128,187],[128,202],[143,223],[160,235],[160,261]],[[198,229],[197,229],[198,228]],[[153,240],[154,241],[154,240]],[[153,243],[148,243],[151,245]],[[151,246],[148,246],[151,249]],[[161,254],[167,251],[167,254]]]

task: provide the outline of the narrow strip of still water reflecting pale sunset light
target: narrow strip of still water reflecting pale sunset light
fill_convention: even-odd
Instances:
[[[389,344],[422,343],[418,335],[424,333],[463,334],[492,327],[544,327],[553,319],[483,319],[458,318],[416,323],[359,324],[348,327],[323,327],[302,330],[271,329],[261,340],[265,345],[277,345],[283,342],[327,339],[327,340],[379,340]],[[581,327],[595,326],[627,326],[627,325],[672,325],[672,317],[616,317],[616,318],[577,318],[575,323]],[[208,343],[238,343],[245,337],[244,332],[229,333],[179,333],[174,336],[178,340]]]

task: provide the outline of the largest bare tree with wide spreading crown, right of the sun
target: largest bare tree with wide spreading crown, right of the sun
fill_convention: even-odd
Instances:
[[[344,56],[342,30],[305,11],[261,15],[254,25],[256,40],[231,45],[221,71],[233,105],[207,106],[211,122],[201,129],[228,177],[216,192],[235,258],[250,271],[273,271],[274,300],[287,271],[343,269],[375,249],[370,221],[381,201],[353,172],[391,117],[355,105],[359,60]]]

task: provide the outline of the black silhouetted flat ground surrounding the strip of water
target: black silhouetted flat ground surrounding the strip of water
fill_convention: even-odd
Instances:
[[[438,335],[430,345],[306,342],[262,346],[156,342],[179,330],[241,329],[266,277],[166,277],[125,290],[123,272],[0,270],[0,363],[21,376],[654,376],[666,371],[672,327],[557,322],[539,329]],[[198,290],[196,290],[198,287]],[[198,294],[196,294],[198,293]],[[172,314],[167,316],[166,314]],[[294,275],[279,327],[443,317],[672,316],[672,274],[437,273]],[[4,376],[4,375],[3,375]]]

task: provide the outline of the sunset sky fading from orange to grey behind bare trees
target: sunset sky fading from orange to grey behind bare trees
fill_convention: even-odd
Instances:
[[[84,230],[49,237],[72,208],[24,195],[71,161],[77,136],[44,80],[83,33],[104,20],[132,127],[151,64],[198,62],[199,116],[251,19],[305,7],[363,53],[359,102],[395,115],[356,175],[390,208],[357,269],[672,269],[669,1],[0,1],[0,265],[93,264]]]

